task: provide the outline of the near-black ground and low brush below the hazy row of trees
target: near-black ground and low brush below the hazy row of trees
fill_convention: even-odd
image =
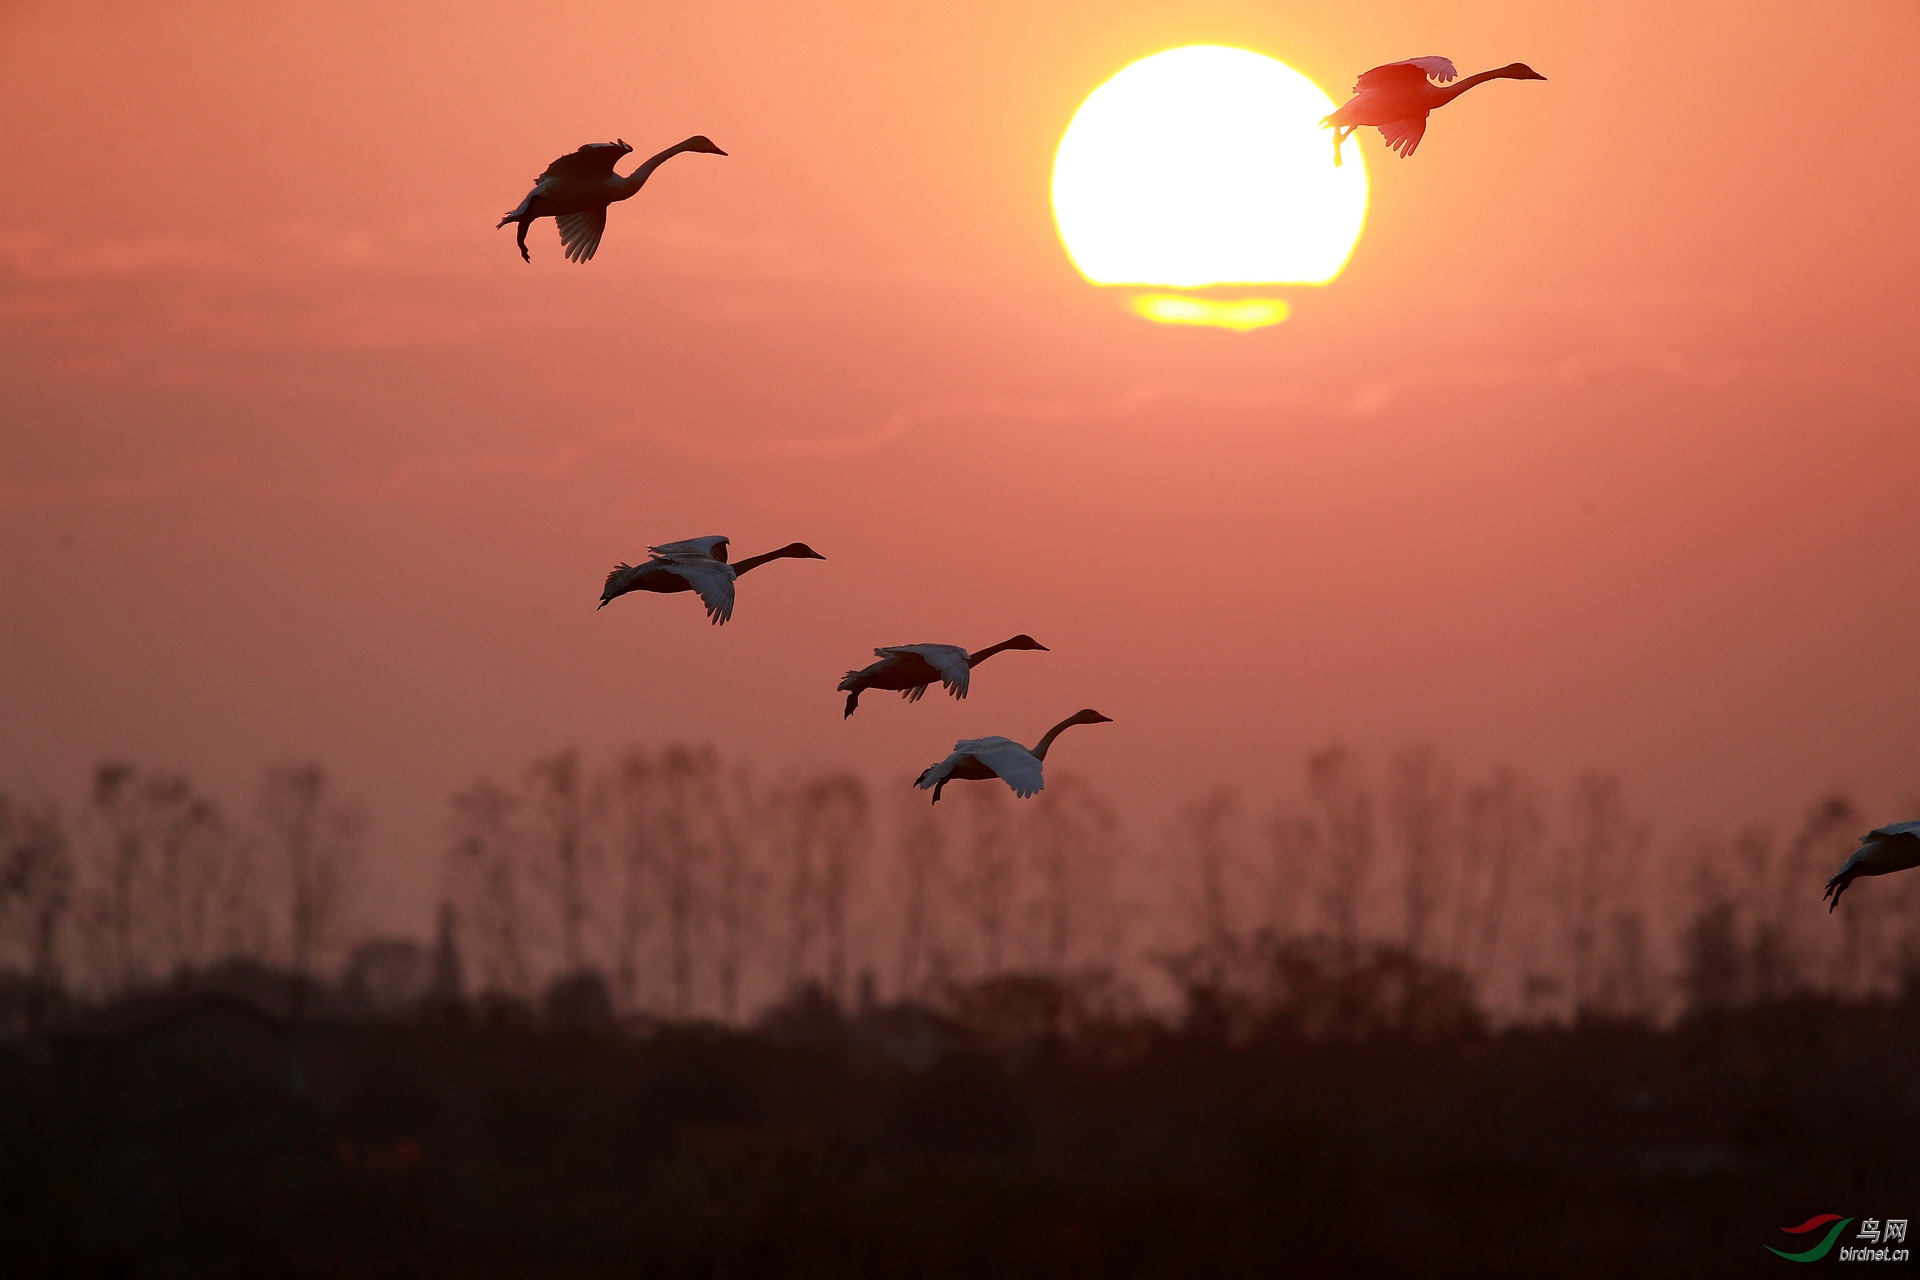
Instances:
[[[0,1044],[0,1270],[1745,1276],[1803,1268],[1764,1245],[1812,1215],[1920,1217],[1920,1004],[1490,1034],[1430,1002],[1165,1025],[1004,979],[722,1031],[152,996]]]

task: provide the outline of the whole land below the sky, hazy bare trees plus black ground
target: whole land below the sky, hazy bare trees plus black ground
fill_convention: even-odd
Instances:
[[[1920,1190],[1914,890],[1826,915],[1843,796],[1655,841],[1430,745],[1144,835],[1071,775],[899,793],[541,756],[451,796],[430,938],[359,927],[317,764],[0,794],[10,1259],[1745,1274]]]

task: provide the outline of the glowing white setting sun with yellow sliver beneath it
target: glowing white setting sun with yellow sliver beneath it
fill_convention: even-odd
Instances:
[[[1089,94],[1054,155],[1073,265],[1094,284],[1327,284],[1367,217],[1357,148],[1336,167],[1319,127],[1332,109],[1313,81],[1240,48],[1194,44],[1125,67]],[[1137,311],[1227,328],[1286,317],[1277,299],[1165,294]]]

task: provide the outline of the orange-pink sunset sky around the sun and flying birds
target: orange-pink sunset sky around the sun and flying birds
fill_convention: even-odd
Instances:
[[[0,4],[0,787],[234,800],[326,760],[382,896],[444,796],[710,739],[904,785],[1035,737],[1140,819],[1432,737],[1661,829],[1920,789],[1905,0]],[[1075,106],[1162,48],[1524,59],[1294,319],[1150,326],[1054,238]],[[707,132],[599,257],[493,230],[563,150]],[[789,539],[735,620],[599,580]],[[833,683],[1031,631],[964,704]]]

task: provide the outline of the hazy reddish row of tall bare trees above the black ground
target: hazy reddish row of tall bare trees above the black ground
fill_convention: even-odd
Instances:
[[[15,1019],[29,990],[52,1007],[252,963],[386,1011],[436,981],[532,1000],[597,975],[622,1015],[741,1023],[806,986],[849,1004],[1006,973],[1100,975],[1171,1009],[1275,954],[1390,948],[1496,1023],[1670,1019],[1895,990],[1920,877],[1820,904],[1885,818],[1836,794],[1786,833],[1657,844],[1613,775],[1555,796],[1505,768],[1461,779],[1432,745],[1377,775],[1336,745],[1290,794],[1219,789],[1142,835],[1071,773],[1031,802],[964,785],[929,808],[847,771],[762,783],[712,748],[597,771],[563,750],[449,798],[430,852],[459,975],[436,977],[428,938],[363,927],[369,818],[319,764],[265,770],[238,812],[180,773],[104,764],[73,812],[0,793],[0,969]]]

